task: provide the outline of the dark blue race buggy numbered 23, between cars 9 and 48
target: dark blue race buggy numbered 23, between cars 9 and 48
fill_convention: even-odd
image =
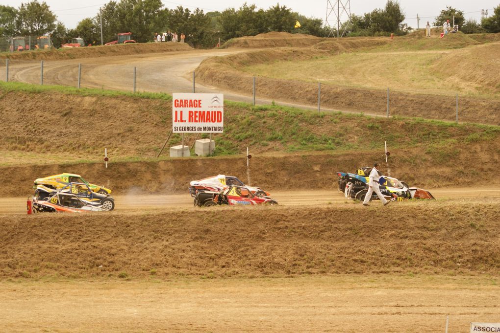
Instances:
[[[114,199],[109,194],[96,193],[85,183],[70,182],[59,189],[37,185],[34,194],[38,200],[44,200],[47,197],[51,197],[55,192],[74,194],[84,202],[102,205],[105,210],[114,209]]]

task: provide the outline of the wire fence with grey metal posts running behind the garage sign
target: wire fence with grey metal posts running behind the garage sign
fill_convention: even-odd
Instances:
[[[62,67],[62,68],[61,68]],[[98,71],[98,73],[95,73]],[[78,60],[71,61],[40,61],[40,60],[0,60],[0,79],[3,81],[20,81],[31,84],[56,84],[75,88],[97,88],[121,90],[129,92],[214,92],[196,84],[196,73],[188,77],[185,71],[168,69],[171,77],[159,80],[151,79],[150,67],[131,65],[106,64],[104,69],[96,69],[89,63]],[[97,74],[97,75],[96,75]],[[119,75],[118,75],[119,74]],[[103,80],[106,78],[105,82]],[[183,86],[177,86],[172,77],[184,77]],[[257,104],[271,104],[276,99],[286,101],[282,105],[298,106],[317,110],[318,112],[343,111],[349,113],[364,113],[380,117],[407,116],[437,119],[445,121],[471,122],[500,125],[500,99],[481,99],[470,96],[424,95],[418,92],[408,93],[393,91],[390,88],[379,90],[362,90],[356,88],[341,88],[321,83],[290,81],[289,86],[278,84],[269,78],[247,77],[248,82],[239,83],[239,88],[222,87],[227,100],[236,100]],[[286,90],[293,86],[303,93],[297,96],[282,97]],[[225,91],[224,91],[225,90]],[[233,91],[237,90],[238,93]],[[274,94],[274,95],[273,95]],[[276,97],[276,96],[281,96]],[[349,96],[349,98],[346,98]],[[294,98],[296,97],[296,98]]]

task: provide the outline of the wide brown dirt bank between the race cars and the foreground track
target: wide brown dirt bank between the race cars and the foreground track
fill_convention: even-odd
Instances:
[[[0,278],[496,274],[500,269],[497,202],[213,208],[1,216]]]

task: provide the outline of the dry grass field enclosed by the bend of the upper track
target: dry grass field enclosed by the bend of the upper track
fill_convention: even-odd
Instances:
[[[455,51],[342,53],[313,59],[269,61],[245,73],[363,89],[493,97],[500,91],[500,43]]]

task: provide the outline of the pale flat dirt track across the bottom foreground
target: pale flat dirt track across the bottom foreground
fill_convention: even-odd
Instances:
[[[497,322],[484,277],[0,283],[3,332],[468,332]]]

